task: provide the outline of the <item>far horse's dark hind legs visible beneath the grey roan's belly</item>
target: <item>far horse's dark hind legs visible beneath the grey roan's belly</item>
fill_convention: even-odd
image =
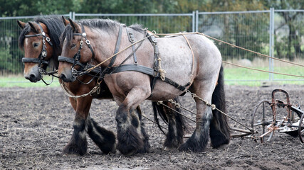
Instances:
[[[174,98],[174,101],[180,105],[179,98]],[[169,108],[161,104],[158,105],[156,102],[152,101],[154,120],[160,130],[162,130],[162,127],[159,124],[158,115],[160,118],[162,118],[162,120],[164,120],[165,123],[168,124],[167,134],[164,132],[164,130],[162,130],[167,137],[164,142],[164,147],[179,147],[179,145],[181,145],[183,142],[184,132],[187,130],[186,121],[184,120],[183,116],[179,114],[182,113],[180,108],[177,108],[168,101],[163,101],[163,103],[164,105],[169,106]],[[172,111],[170,108],[178,111],[179,113]]]

